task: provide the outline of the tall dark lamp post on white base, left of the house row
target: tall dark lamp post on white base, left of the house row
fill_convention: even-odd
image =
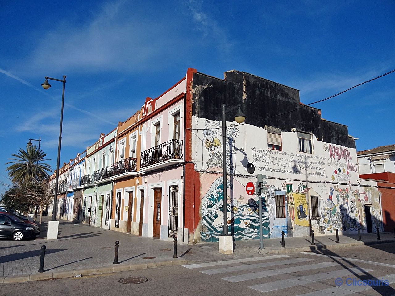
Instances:
[[[52,219],[48,223],[48,230],[47,230],[47,240],[56,239],[58,238],[58,227],[59,221],[56,221],[56,202],[57,202],[57,195],[58,195],[58,182],[59,182],[59,165],[60,165],[60,148],[62,146],[62,124],[63,124],[63,106],[64,106],[64,86],[66,84],[66,75],[63,75],[63,80],[45,77],[45,81],[41,86],[47,90],[51,87],[51,84],[48,83],[49,80],[55,80],[63,82],[63,91],[62,91],[62,109],[60,111],[60,129],[59,129],[59,144],[58,144],[58,160],[56,162],[56,177],[55,177],[55,197],[53,199],[53,210],[52,210]],[[51,223],[53,222],[53,223]],[[51,227],[52,226],[52,227]]]

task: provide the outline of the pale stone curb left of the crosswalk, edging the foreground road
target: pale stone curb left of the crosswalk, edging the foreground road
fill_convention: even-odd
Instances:
[[[86,268],[86,269],[76,269],[64,272],[43,272],[37,274],[27,274],[27,275],[13,275],[7,277],[0,277],[0,284],[8,284],[8,283],[24,283],[24,282],[32,282],[32,281],[43,281],[48,279],[64,279],[66,277],[75,277],[75,275],[94,275],[94,274],[111,274],[114,272],[123,272],[128,270],[141,270],[148,268],[157,268],[164,266],[173,266],[173,265],[183,265],[188,264],[189,261],[185,259],[177,259],[177,260],[168,260],[161,262],[149,262],[149,263],[139,263],[139,264],[130,264],[130,265],[114,265],[114,266],[102,266],[95,268]]]

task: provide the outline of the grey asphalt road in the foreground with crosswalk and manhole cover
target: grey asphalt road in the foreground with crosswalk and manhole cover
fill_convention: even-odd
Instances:
[[[315,254],[321,255],[308,252],[257,256],[231,262],[211,262],[201,267],[171,266],[107,275],[3,284],[0,295],[395,295],[395,244]],[[148,280],[134,285],[119,283],[120,279],[126,277],[145,277]],[[369,287],[361,282],[369,279],[372,279],[371,284],[380,285],[379,280],[392,284]]]

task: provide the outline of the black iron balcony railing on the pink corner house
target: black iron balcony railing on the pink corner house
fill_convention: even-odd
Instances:
[[[182,159],[182,140],[170,140],[141,152],[140,167],[148,167],[170,159]]]

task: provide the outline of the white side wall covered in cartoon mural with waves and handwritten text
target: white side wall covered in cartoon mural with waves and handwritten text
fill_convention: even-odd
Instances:
[[[223,225],[222,128],[204,118],[192,122],[197,131],[192,155],[201,182],[200,237],[195,240],[216,241]],[[227,126],[226,163],[232,175],[227,181],[228,230],[236,240],[259,238],[258,196],[246,193],[246,184],[256,182],[256,173],[268,177],[262,195],[264,238],[281,237],[282,231],[286,236],[308,236],[310,229],[316,234],[335,229],[346,234],[358,227],[370,232],[367,225],[381,227],[377,188],[355,186],[361,180],[354,148],[309,135],[312,153],[303,153],[300,134],[281,132],[282,147],[273,150],[266,148],[270,135],[265,129],[234,122]],[[254,174],[246,170],[248,163],[254,165]],[[366,208],[371,223],[366,222]]]

